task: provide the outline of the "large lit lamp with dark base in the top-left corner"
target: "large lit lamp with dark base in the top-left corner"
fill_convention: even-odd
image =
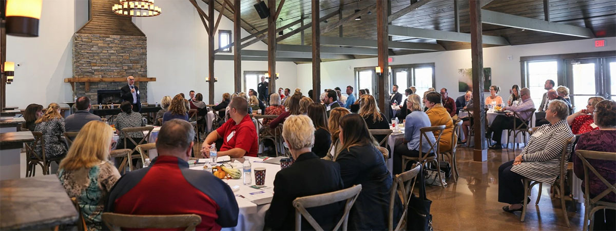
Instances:
[[[6,34],[38,37],[43,0],[9,0],[6,6]]]

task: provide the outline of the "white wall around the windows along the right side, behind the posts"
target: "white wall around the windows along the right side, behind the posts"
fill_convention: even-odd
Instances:
[[[521,84],[520,57],[533,55],[569,54],[616,50],[616,38],[606,39],[605,47],[594,47],[596,39],[582,39],[555,43],[540,43],[519,46],[484,48],[484,67],[492,68],[492,84],[501,87],[500,95],[509,96],[513,84]],[[508,60],[511,55],[512,59]],[[394,56],[389,65],[410,63],[434,63],[436,87],[446,87],[450,97],[462,95],[458,90],[458,69],[471,68],[471,50],[431,52],[424,54]],[[321,88],[354,86],[356,67],[376,67],[377,59],[344,60],[321,63]],[[312,89],[312,64],[298,65],[298,84],[302,89]],[[355,91],[357,94],[357,91]]]

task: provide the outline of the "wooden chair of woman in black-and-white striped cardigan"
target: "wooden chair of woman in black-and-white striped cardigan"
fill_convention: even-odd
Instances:
[[[557,177],[556,182],[552,184],[553,186],[552,188],[556,190],[556,193],[558,193],[558,195],[560,196],[562,216],[564,216],[565,218],[565,224],[567,224],[567,227],[571,227],[571,225],[569,224],[569,216],[567,216],[567,207],[565,206],[565,200],[567,200],[567,198],[569,198],[568,200],[571,200],[571,197],[569,197],[569,195],[565,195],[565,178],[567,177],[567,162],[569,162],[569,158],[568,158],[569,156],[567,155],[567,152],[570,152],[570,150],[572,150],[572,148],[570,147],[572,146],[573,142],[575,142],[575,137],[573,137],[570,140],[567,140],[567,142],[564,142],[564,144],[562,144],[562,151],[561,151],[561,157],[560,157],[561,160],[559,163],[559,169],[561,169],[561,173]],[[526,198],[530,197],[530,190],[533,188],[534,185],[539,184],[537,200],[535,201],[535,205],[538,205],[539,199],[541,198],[541,188],[543,187],[543,183],[538,182],[538,181],[533,181],[527,177],[524,177],[523,184],[524,184],[524,203],[522,203],[523,208],[522,208],[522,216],[520,217],[521,222],[524,222],[524,218],[526,215],[526,207],[529,202],[528,200],[526,200]]]

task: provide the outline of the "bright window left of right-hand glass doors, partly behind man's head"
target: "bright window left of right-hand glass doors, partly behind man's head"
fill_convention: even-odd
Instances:
[[[535,103],[535,108],[538,108],[541,103],[545,90],[545,81],[552,79],[554,88],[559,86],[558,83],[558,65],[556,60],[526,62],[527,87],[530,89],[530,99]],[[501,90],[503,87],[501,87]],[[505,88],[508,89],[508,88]],[[509,95],[501,95],[503,99]]]

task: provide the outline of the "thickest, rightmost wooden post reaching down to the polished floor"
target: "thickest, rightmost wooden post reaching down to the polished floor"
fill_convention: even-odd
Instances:
[[[482,49],[481,2],[469,0],[471,20],[471,63],[472,63],[472,100],[474,102],[473,120],[475,129],[475,147],[472,160],[487,161],[488,152],[485,143],[484,113],[484,52]]]

